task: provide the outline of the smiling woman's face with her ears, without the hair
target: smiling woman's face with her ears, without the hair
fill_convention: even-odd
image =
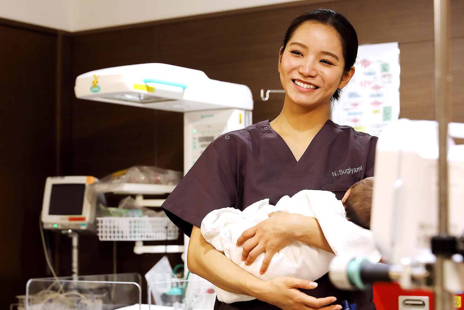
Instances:
[[[327,106],[354,74],[345,71],[342,44],[334,28],[307,21],[300,25],[279,55],[285,103]],[[327,107],[325,107],[327,108]]]

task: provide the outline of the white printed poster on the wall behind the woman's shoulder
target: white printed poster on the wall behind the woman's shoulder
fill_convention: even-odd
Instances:
[[[335,102],[331,119],[378,136],[400,115],[398,42],[360,45],[354,68],[354,76]]]

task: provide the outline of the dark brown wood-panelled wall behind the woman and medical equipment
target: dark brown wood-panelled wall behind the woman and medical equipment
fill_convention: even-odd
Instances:
[[[182,169],[182,114],[77,100],[73,87],[79,74],[149,62],[199,69],[212,79],[250,87],[253,120],[272,120],[284,96],[271,94],[264,102],[259,90],[281,89],[281,37],[303,11],[328,7],[353,23],[360,44],[399,42],[400,117],[434,119],[433,1],[320,2],[73,34],[0,21],[0,156],[5,171],[0,192],[0,286],[6,287],[0,306],[24,293],[28,278],[47,275],[38,230],[45,177],[103,177],[136,164]],[[451,120],[464,122],[464,1],[451,0],[451,12]],[[70,240],[47,234],[58,274],[69,275]],[[117,272],[143,275],[161,254],[136,255],[133,246],[117,243]],[[80,247],[81,274],[113,271],[111,242],[82,236]],[[169,258],[173,265],[180,262],[178,255]]]

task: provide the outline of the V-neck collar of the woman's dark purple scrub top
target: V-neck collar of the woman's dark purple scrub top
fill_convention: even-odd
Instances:
[[[306,173],[314,164],[314,158],[317,158],[322,147],[334,138],[331,132],[337,128],[334,122],[327,120],[297,161],[285,140],[272,129],[269,120],[259,122],[257,125],[274,150],[275,155],[289,173]]]

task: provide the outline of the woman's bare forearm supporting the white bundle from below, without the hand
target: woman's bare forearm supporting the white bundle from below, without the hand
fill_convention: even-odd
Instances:
[[[195,226],[188,245],[187,267],[223,290],[256,298],[262,293],[264,281],[232,263],[206,242],[200,228]]]

